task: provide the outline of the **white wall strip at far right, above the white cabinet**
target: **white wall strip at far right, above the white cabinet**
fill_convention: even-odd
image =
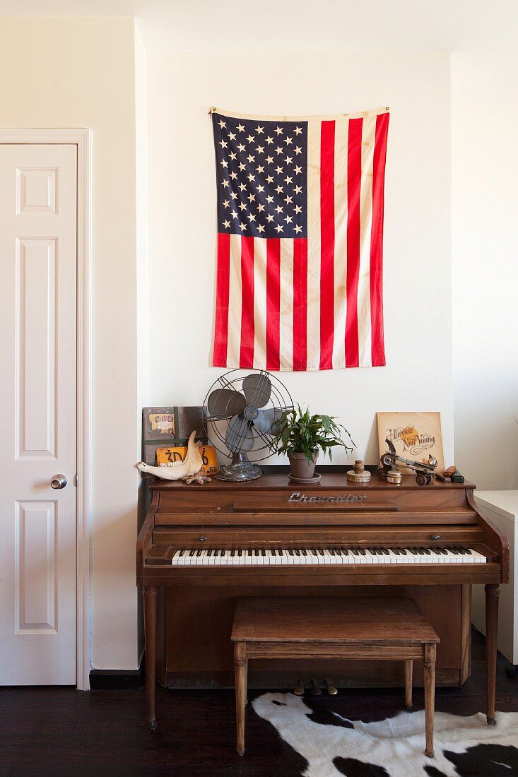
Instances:
[[[453,54],[455,463],[491,490],[518,487],[517,126],[518,54]]]

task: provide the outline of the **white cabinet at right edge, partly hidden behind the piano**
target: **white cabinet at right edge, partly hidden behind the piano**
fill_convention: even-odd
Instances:
[[[518,491],[475,491],[475,502],[509,540],[509,584],[500,587],[498,648],[511,664],[518,664]],[[475,629],[485,634],[484,586],[473,587],[472,620]]]

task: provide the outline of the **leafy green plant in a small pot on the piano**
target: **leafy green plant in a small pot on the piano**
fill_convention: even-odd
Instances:
[[[290,475],[297,479],[313,478],[319,451],[327,454],[330,461],[332,448],[336,446],[352,453],[352,447],[341,439],[342,432],[347,434],[352,445],[355,444],[348,430],[336,423],[334,416],[311,416],[309,409],[303,410],[300,405],[285,410],[275,422],[273,431],[270,448],[288,456]]]

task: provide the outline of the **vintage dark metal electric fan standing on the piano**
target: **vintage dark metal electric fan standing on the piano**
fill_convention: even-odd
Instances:
[[[254,461],[273,455],[269,444],[275,423],[293,406],[285,385],[264,370],[231,370],[212,384],[204,405],[208,437],[220,453],[232,456],[232,464],[222,465],[216,478],[244,481],[261,477],[262,469],[249,461],[248,454]]]

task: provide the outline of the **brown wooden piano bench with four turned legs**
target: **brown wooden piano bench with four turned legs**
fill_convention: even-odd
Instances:
[[[425,754],[433,756],[436,645],[439,636],[413,599],[242,598],[232,641],[236,673],[236,750],[243,755],[249,658],[404,660],[404,703],[411,707],[412,661],[425,667]]]

